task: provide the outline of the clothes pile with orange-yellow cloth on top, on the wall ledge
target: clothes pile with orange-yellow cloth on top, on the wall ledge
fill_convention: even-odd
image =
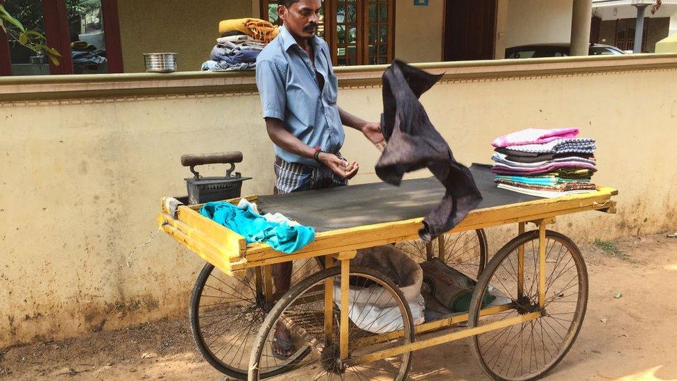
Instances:
[[[218,24],[216,45],[203,71],[256,69],[256,58],[279,33],[277,26],[262,19],[228,19]]]

